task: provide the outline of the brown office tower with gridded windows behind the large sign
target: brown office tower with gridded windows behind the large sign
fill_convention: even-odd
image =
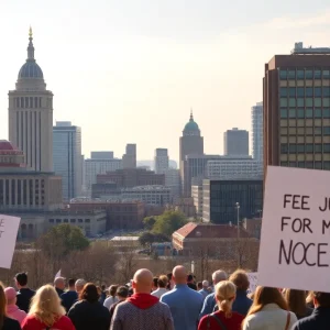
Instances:
[[[267,165],[330,169],[330,48],[297,43],[265,65]]]

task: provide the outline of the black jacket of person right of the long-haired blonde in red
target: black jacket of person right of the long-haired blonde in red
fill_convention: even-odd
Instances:
[[[99,301],[90,304],[86,300],[76,302],[67,315],[76,330],[109,330],[110,312]]]

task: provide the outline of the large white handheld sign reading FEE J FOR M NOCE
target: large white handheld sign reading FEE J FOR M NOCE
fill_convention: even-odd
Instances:
[[[330,292],[330,172],[267,168],[258,285]]]

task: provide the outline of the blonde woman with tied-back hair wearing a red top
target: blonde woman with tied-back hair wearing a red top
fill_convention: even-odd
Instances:
[[[244,316],[232,311],[237,287],[230,280],[222,280],[216,285],[216,300],[218,311],[206,315],[199,322],[198,330],[227,329],[241,330]],[[221,327],[219,327],[221,324]]]

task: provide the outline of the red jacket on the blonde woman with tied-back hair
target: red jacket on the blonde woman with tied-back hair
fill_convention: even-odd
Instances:
[[[231,318],[226,318],[224,312],[222,310],[218,310],[215,315],[222,321],[222,323],[227,327],[228,330],[241,330],[242,322],[244,317],[235,311],[232,312]],[[210,328],[208,329],[208,318],[210,320]],[[220,330],[221,327],[217,322],[217,320],[212,317],[206,315],[201,318],[198,324],[198,330]]]

